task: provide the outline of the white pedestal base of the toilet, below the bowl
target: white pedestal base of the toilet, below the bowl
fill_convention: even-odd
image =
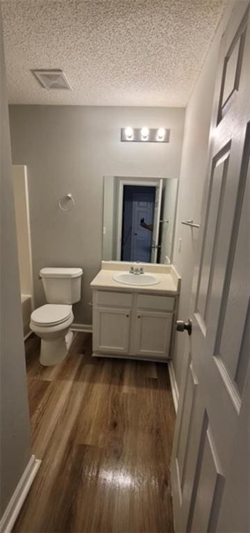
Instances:
[[[67,335],[57,339],[41,339],[40,364],[42,366],[54,366],[63,362],[67,357],[73,337],[74,333],[69,331]]]

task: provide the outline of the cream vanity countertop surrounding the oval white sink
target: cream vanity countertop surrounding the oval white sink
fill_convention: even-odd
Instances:
[[[160,280],[160,283],[157,285],[124,285],[113,280],[113,276],[115,273],[128,273],[129,264],[114,264],[115,262],[113,264],[110,264],[111,262],[103,263],[105,264],[102,264],[102,269],[90,283],[92,289],[111,289],[120,292],[143,292],[152,294],[164,293],[173,294],[174,296],[180,291],[181,278],[172,265],[155,265],[154,268],[153,265],[148,265],[147,268],[147,264],[142,264],[145,273],[154,273],[158,280]]]

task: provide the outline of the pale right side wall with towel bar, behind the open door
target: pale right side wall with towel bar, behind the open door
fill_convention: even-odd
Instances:
[[[206,62],[192,92],[185,115],[173,260],[182,278],[178,312],[178,318],[181,320],[187,320],[190,316],[190,295],[199,235],[198,230],[191,230],[188,226],[183,226],[181,221],[194,219],[195,222],[200,223],[203,215],[201,213],[201,201],[208,164],[210,119],[219,44],[230,17],[232,6],[233,3],[230,2],[224,13],[213,44],[208,52]],[[178,250],[179,239],[181,239],[181,251]],[[185,356],[185,340],[185,335],[180,333],[176,335],[173,365],[178,388],[181,384],[183,366],[185,366],[183,360]]]

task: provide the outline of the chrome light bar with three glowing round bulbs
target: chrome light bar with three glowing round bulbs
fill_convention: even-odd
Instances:
[[[122,142],[169,142],[170,130],[167,128],[121,128]]]

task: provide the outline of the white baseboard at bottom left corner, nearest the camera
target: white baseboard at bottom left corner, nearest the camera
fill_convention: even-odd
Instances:
[[[31,455],[31,459],[29,460],[1,518],[1,533],[10,533],[12,531],[12,527],[22,509],[24,500],[33,484],[35,475],[38,473],[38,468],[40,467],[41,462],[40,459],[35,459],[35,455]]]

